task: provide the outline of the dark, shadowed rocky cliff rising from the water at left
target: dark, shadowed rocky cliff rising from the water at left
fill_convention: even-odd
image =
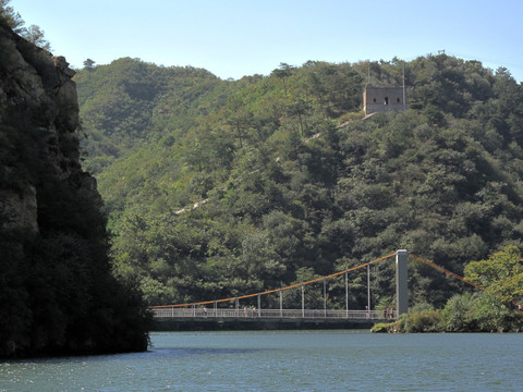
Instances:
[[[0,356],[147,346],[80,163],[74,73],[0,19]]]

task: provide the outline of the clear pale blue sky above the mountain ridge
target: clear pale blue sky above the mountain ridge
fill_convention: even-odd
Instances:
[[[413,60],[438,53],[523,81],[523,1],[11,0],[75,68],[122,57],[268,75],[281,62]]]

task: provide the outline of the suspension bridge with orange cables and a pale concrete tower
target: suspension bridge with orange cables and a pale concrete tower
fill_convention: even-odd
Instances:
[[[398,319],[402,314],[409,310],[408,295],[408,259],[409,257],[424,262],[452,278],[460,279],[465,283],[477,286],[467,282],[462,277],[452,273],[441,267],[431,264],[415,255],[409,255],[406,250],[398,250],[380,257],[376,260],[361,264],[353,268],[348,268],[329,275],[316,278],[306,282],[292,284],[285,287],[268,290],[265,292],[246,294],[241,296],[203,301],[196,303],[151,306],[149,309],[156,321],[175,321],[177,323],[194,323],[194,322],[228,322],[228,323],[285,323],[285,322],[314,322],[314,323],[376,323],[390,322]],[[385,310],[373,310],[370,304],[370,266],[382,260],[396,258],[396,308]],[[360,269],[367,269],[367,306],[365,309],[349,308],[349,279],[350,273]],[[344,275],[345,285],[345,304],[344,308],[329,309],[327,308],[327,284],[328,281]],[[308,309],[305,307],[305,286],[314,283],[323,282],[323,303],[320,309]],[[301,308],[285,308],[283,293],[291,290],[301,292]],[[279,295],[278,308],[262,308],[262,297],[265,295]],[[257,307],[247,307],[247,301],[252,303],[253,298],[257,298]],[[246,301],[247,299],[247,301]],[[242,304],[243,303],[243,304]],[[341,307],[338,305],[338,307]]]

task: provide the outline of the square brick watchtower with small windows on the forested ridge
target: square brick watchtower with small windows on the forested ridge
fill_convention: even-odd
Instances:
[[[365,115],[385,111],[406,110],[406,96],[403,87],[367,86],[363,91]]]

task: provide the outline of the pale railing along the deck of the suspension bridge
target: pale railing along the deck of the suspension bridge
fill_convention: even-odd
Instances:
[[[157,318],[228,318],[228,319],[349,319],[385,320],[396,318],[382,310],[341,309],[220,309],[220,308],[175,308],[151,309]]]

